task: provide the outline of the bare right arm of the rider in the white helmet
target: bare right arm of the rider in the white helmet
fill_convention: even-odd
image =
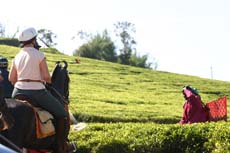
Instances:
[[[39,66],[40,66],[42,80],[44,80],[47,83],[51,83],[51,77],[49,74],[49,70],[45,58],[41,61]]]

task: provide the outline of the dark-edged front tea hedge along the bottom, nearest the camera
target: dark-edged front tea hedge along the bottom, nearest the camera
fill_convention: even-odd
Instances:
[[[70,139],[79,153],[229,152],[228,122],[191,125],[155,123],[90,123]]]

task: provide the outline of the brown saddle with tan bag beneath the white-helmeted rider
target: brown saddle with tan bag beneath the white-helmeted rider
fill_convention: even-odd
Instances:
[[[17,101],[30,106],[34,111],[36,136],[38,139],[46,138],[55,134],[55,127],[53,124],[54,117],[48,111],[36,106],[33,100],[25,95],[17,95]]]

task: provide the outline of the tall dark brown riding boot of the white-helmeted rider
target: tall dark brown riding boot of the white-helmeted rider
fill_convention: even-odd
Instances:
[[[67,153],[68,147],[67,147],[67,119],[66,118],[60,118],[57,120],[57,126],[56,126],[56,136],[57,136],[57,153]]]

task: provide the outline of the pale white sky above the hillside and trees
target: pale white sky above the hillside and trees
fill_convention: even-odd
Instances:
[[[49,29],[56,48],[72,55],[83,30],[113,32],[114,23],[136,28],[137,52],[157,70],[230,81],[229,0],[0,0],[6,34],[17,28]],[[75,37],[75,39],[72,39]]]

